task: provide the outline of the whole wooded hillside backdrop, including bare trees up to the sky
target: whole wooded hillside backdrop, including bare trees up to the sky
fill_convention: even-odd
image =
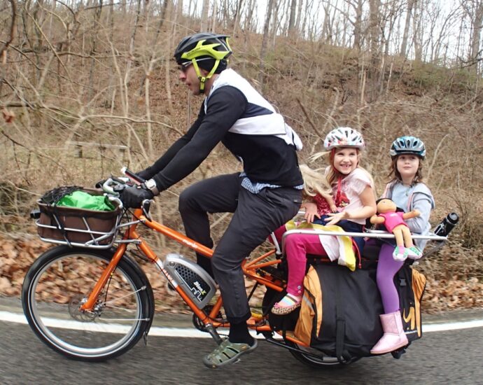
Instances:
[[[451,248],[421,265],[433,279],[481,282],[483,1],[444,3],[0,0],[1,231],[34,234],[26,215],[45,190],[92,186],[157,159],[202,103],[177,80],[174,48],[187,34],[216,31],[231,36],[230,66],[302,137],[301,162],[333,127],[354,127],[381,193],[391,141],[421,137],[437,202],[431,221],[461,215]],[[237,169],[218,146],[162,193],[155,218],[182,230],[180,191]],[[228,217],[213,219],[217,237]]]

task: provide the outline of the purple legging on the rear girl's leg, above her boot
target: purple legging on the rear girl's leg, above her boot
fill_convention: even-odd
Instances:
[[[399,296],[394,286],[394,275],[404,262],[394,260],[393,251],[394,246],[383,244],[379,251],[379,262],[377,262],[377,287],[381,293],[385,314],[399,310]]]

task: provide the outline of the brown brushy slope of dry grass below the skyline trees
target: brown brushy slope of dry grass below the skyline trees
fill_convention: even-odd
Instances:
[[[163,29],[158,43],[153,43],[153,34],[139,29],[128,55],[129,40],[122,32],[129,23],[116,15],[116,33],[111,39],[107,29],[100,30],[95,35],[96,52],[90,55],[94,38],[90,20],[79,22],[85,39],[76,39],[69,47],[79,55],[62,56],[60,64],[43,41],[44,50],[35,55],[14,51],[2,68],[1,76],[11,85],[3,88],[4,105],[15,113],[10,123],[0,122],[3,232],[33,232],[26,216],[45,190],[92,186],[109,174],[118,175],[123,165],[134,170],[146,167],[185,132],[202,103],[177,81],[170,61],[172,47],[166,46],[186,31],[173,36],[170,29]],[[456,211],[461,223],[449,246],[421,263],[421,268],[431,285],[448,286],[454,277],[482,282],[483,95],[479,80],[464,69],[393,57],[387,57],[374,76],[364,52],[319,42],[298,43],[295,50],[293,41],[286,38],[276,39],[260,77],[260,43],[255,34],[234,36],[231,65],[262,89],[300,134],[301,162],[321,151],[321,139],[332,127],[350,125],[364,134],[363,165],[372,172],[381,193],[391,141],[400,134],[412,134],[426,142],[424,172],[437,202],[431,222],[435,225],[449,211]],[[71,141],[128,149],[120,153],[86,147],[80,158]],[[162,193],[154,207],[155,218],[182,231],[177,212],[181,190],[194,181],[237,169],[234,157],[218,146],[193,174]],[[214,239],[221,236],[228,220],[214,216]],[[179,250],[156,239],[160,255],[166,248]]]

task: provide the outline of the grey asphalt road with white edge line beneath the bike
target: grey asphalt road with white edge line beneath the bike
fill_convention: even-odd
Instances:
[[[239,363],[210,370],[202,356],[211,339],[150,337],[105,363],[55,353],[28,325],[0,321],[0,384],[483,384],[483,328],[428,332],[395,360],[364,358],[314,370],[260,340]]]

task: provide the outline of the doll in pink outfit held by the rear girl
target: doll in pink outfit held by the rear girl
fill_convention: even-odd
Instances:
[[[412,259],[421,258],[421,251],[414,246],[411,232],[405,223],[405,219],[419,216],[419,211],[412,210],[407,213],[397,211],[395,203],[383,198],[377,201],[377,214],[370,218],[370,223],[384,224],[388,232],[392,232],[395,237],[396,247],[393,252],[394,260],[403,261],[407,257]]]

